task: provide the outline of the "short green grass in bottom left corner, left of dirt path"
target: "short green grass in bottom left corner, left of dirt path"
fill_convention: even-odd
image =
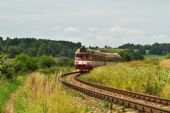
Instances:
[[[5,105],[11,95],[21,83],[16,81],[8,81],[5,79],[0,79],[0,112],[4,112]]]

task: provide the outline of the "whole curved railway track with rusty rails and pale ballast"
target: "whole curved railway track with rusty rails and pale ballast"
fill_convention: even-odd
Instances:
[[[79,78],[82,74],[81,72],[66,73],[62,75],[61,81],[65,86],[88,96],[133,108],[142,113],[170,113],[170,100],[87,82]],[[71,79],[65,79],[69,75],[72,75]]]

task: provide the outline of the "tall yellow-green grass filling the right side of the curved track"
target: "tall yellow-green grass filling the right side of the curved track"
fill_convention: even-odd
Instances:
[[[170,98],[170,70],[150,62],[98,67],[82,78],[106,86]]]

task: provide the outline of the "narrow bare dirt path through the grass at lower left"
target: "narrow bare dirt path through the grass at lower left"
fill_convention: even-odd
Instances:
[[[5,113],[14,113],[13,104],[14,104],[14,100],[15,100],[16,96],[17,96],[17,91],[11,94],[11,96],[6,104]]]

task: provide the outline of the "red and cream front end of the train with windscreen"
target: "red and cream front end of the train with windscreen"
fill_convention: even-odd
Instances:
[[[75,68],[80,71],[87,71],[93,68],[91,64],[92,51],[80,48],[75,52]]]

